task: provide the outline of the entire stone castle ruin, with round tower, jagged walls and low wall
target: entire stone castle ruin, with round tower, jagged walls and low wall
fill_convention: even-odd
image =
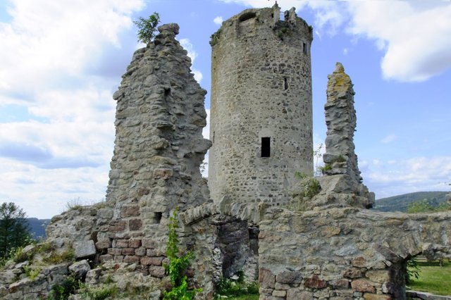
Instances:
[[[368,209],[374,195],[357,167],[354,91],[340,63],[327,88],[321,189],[299,199],[303,209],[286,206],[296,187],[291,173],[312,173],[311,27],[294,9],[285,20],[278,13],[278,6],[246,10],[212,37],[211,142],[202,137],[206,92],[175,39],[178,25],[160,26],[135,51],[113,94],[106,201],[52,218],[47,250],[31,245],[25,261],[0,272],[1,299],[47,299],[68,276],[114,285],[116,299],[161,299],[170,288],[163,263],[176,207],[180,247],[196,257],[189,283],[204,289],[197,299],[212,299],[214,282],[240,269],[258,278],[261,300],[405,299],[409,258],[451,257],[450,212]],[[211,145],[209,190],[199,166]],[[75,261],[56,262],[66,251]]]

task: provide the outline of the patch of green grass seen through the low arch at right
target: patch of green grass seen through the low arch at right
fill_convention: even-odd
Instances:
[[[437,295],[451,295],[451,263],[445,259],[443,267],[438,262],[426,263],[419,261],[420,275],[408,285],[409,289],[429,292]]]

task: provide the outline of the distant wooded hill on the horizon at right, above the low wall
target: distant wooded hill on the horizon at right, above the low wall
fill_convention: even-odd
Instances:
[[[388,198],[376,200],[376,205],[373,209],[376,211],[402,211],[407,212],[409,204],[424,199],[432,206],[438,206],[446,201],[446,195],[450,192],[415,192],[409,194],[402,194],[398,196],[391,196]]]

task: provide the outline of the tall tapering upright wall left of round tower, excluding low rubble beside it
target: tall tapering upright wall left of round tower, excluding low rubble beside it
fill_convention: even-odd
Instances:
[[[116,142],[106,202],[114,203],[114,214],[99,230],[97,247],[101,261],[137,263],[163,277],[171,211],[209,199],[199,165],[211,143],[202,137],[206,92],[175,39],[178,25],[159,31],[135,52],[113,94]]]

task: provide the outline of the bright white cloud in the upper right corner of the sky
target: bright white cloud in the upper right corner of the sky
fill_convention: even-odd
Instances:
[[[427,2],[348,2],[350,30],[376,40],[386,78],[424,81],[451,68],[451,3]]]

